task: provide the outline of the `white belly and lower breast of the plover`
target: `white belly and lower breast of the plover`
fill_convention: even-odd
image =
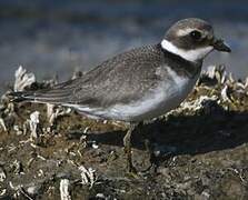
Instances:
[[[168,69],[170,81],[161,82],[152,92],[129,104],[115,104],[108,109],[79,109],[93,116],[122,121],[142,121],[165,114],[177,108],[192,90],[195,79],[181,78]]]

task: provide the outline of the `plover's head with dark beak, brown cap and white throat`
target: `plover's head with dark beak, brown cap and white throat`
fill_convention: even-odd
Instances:
[[[208,22],[196,18],[175,23],[167,31],[161,47],[191,62],[202,61],[214,49],[231,51],[224,40],[215,37],[214,29]]]

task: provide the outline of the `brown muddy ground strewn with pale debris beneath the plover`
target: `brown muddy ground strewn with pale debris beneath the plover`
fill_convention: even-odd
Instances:
[[[138,174],[126,171],[123,124],[72,111],[51,126],[46,106],[20,103],[11,110],[4,102],[0,199],[61,199],[62,191],[65,199],[248,199],[247,91],[246,82],[221,70],[202,76],[179,109],[137,128]],[[23,123],[36,110],[38,138],[30,138]],[[149,171],[146,139],[156,154]]]

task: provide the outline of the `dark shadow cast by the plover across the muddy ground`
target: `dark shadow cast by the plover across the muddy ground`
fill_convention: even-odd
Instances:
[[[145,150],[145,140],[165,147],[173,154],[198,154],[225,150],[248,142],[248,112],[226,111],[216,104],[210,113],[170,116],[139,124],[132,136],[132,147]],[[126,131],[90,133],[98,143],[122,147]],[[80,136],[80,133],[79,133]]]

